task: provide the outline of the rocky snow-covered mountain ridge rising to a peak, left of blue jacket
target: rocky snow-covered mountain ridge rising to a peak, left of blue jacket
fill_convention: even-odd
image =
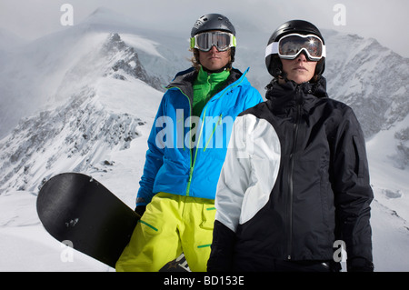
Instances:
[[[0,141],[0,195],[10,190],[37,191],[46,178],[61,171],[109,170],[113,162],[104,156],[129,148],[140,135],[138,127],[146,124],[134,115],[135,109],[129,114],[124,108],[139,106],[145,114],[145,107],[134,104],[141,98],[133,94],[138,87],[160,84],[117,34],[108,35],[99,51],[85,55],[67,72],[67,80],[78,88],[65,104],[21,120]],[[136,87],[126,92],[129,85]],[[121,109],[115,110],[113,101],[122,102]]]

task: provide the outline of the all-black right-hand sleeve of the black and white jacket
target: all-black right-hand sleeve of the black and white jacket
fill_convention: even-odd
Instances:
[[[334,148],[334,193],[337,239],[344,241],[348,271],[372,271],[370,204],[374,194],[364,134],[348,107],[336,136]]]

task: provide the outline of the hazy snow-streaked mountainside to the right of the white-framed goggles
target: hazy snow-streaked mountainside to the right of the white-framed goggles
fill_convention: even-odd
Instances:
[[[409,114],[409,58],[374,38],[332,31],[324,37],[328,93],[353,107],[365,137],[403,121]]]

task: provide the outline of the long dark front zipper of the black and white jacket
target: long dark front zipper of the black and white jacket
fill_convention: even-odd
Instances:
[[[289,195],[288,195],[288,238],[287,238],[287,259],[291,260],[291,253],[293,252],[293,197],[294,197],[294,154],[296,151],[297,141],[298,141],[298,129],[300,126],[301,119],[301,106],[302,100],[300,95],[300,86],[297,85],[295,89],[295,101],[296,101],[296,115],[294,122],[294,138],[293,147],[290,153],[290,172],[288,175],[288,185],[289,185]]]

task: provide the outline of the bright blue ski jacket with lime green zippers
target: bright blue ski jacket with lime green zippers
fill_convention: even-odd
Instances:
[[[149,204],[158,192],[214,199],[235,117],[263,102],[247,72],[233,69],[200,118],[192,116],[197,72],[190,68],[175,76],[148,137],[137,206]]]

